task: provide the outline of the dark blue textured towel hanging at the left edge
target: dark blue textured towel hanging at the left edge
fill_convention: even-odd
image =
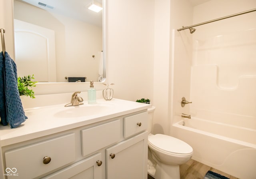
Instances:
[[[7,52],[4,55],[0,53],[0,117],[2,125],[15,128],[28,117],[18,91],[16,64]]]

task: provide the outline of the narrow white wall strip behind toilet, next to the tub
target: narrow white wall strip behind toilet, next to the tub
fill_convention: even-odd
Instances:
[[[152,133],[169,131],[170,0],[155,1],[154,121]]]

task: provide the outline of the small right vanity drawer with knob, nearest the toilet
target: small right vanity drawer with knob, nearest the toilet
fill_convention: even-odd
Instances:
[[[148,128],[148,112],[124,117],[124,138]]]

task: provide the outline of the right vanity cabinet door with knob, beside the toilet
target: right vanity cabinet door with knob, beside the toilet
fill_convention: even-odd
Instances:
[[[147,179],[148,133],[106,149],[106,179]]]

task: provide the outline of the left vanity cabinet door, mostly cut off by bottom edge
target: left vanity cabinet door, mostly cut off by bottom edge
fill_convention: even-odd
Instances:
[[[97,153],[43,179],[102,179],[104,166],[101,153]]]

